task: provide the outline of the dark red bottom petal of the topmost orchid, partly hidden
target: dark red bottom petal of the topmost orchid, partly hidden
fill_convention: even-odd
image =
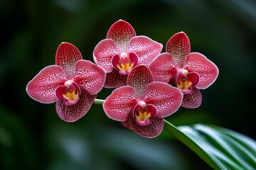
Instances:
[[[112,72],[107,73],[104,87],[115,88],[119,86],[125,86],[127,85],[127,77],[127,75],[119,74],[117,69],[113,69]]]

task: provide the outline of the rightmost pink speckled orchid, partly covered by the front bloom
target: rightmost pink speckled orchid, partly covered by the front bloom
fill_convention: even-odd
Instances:
[[[197,108],[202,96],[199,89],[206,89],[218,77],[218,67],[198,52],[191,52],[188,36],[181,32],[173,35],[166,45],[166,52],[149,64],[154,81],[164,81],[177,86],[184,96],[181,106]]]

